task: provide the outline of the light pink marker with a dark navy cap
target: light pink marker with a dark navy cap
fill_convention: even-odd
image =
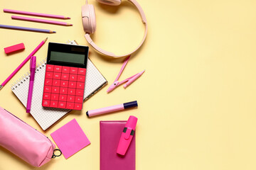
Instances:
[[[91,116],[94,116],[94,115],[101,115],[101,114],[104,114],[104,113],[111,113],[111,112],[114,112],[114,111],[122,111],[124,109],[134,108],[134,107],[137,107],[137,106],[138,106],[137,101],[131,101],[131,102],[128,102],[128,103],[123,103],[123,104],[119,104],[119,105],[115,105],[115,106],[108,106],[108,107],[105,107],[105,108],[98,108],[98,109],[95,109],[95,110],[92,110],[92,111],[87,111],[86,115],[88,117],[91,117]]]

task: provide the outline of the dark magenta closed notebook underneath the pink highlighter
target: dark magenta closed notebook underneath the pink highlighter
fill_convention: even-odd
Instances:
[[[100,170],[135,170],[135,133],[124,157],[117,146],[127,121],[100,121]]]

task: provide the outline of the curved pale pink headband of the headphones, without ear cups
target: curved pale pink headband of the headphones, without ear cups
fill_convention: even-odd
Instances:
[[[134,52],[136,52],[139,47],[142,46],[144,40],[146,39],[146,34],[147,34],[147,23],[146,23],[146,16],[144,14],[144,11],[142,10],[142,7],[139,5],[139,3],[136,0],[128,0],[130,1],[132,4],[134,4],[134,6],[136,6],[136,8],[138,9],[140,16],[142,17],[142,23],[144,23],[144,37],[142,39],[142,41],[139,43],[139,46],[135,48],[135,50],[133,50],[132,52],[129,52],[127,55],[114,55],[114,53],[112,52],[107,52],[106,50],[103,50],[102,48],[100,48],[99,46],[97,46],[95,44],[95,42],[93,42],[92,38],[90,38],[90,33],[85,33],[85,39],[87,40],[87,42],[98,52],[100,52],[103,55],[107,55],[110,57],[114,57],[114,58],[119,58],[119,57],[127,57],[129,55],[132,55]],[[85,13],[84,11],[82,11],[82,13]],[[84,23],[85,25],[85,23]]]

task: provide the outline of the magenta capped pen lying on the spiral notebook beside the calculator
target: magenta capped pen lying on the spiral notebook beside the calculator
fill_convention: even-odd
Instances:
[[[35,80],[35,73],[36,73],[36,56],[31,57],[31,76],[29,79],[29,87],[28,87],[28,101],[26,106],[26,113],[30,113],[31,111],[31,100],[32,100],[32,94],[33,94],[33,81]]]

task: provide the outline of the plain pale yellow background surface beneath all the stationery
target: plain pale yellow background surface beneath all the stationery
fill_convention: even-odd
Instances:
[[[124,54],[139,43],[143,25],[137,11],[124,1],[119,7],[95,5],[97,31],[93,36],[105,50]],[[0,14],[1,24],[48,28],[56,34],[0,29],[0,81],[48,37],[48,42],[83,37],[80,8],[85,1],[4,1],[0,9],[56,13],[69,16],[73,27],[11,20]],[[91,145],[69,159],[63,156],[38,169],[100,169],[100,120],[139,118],[136,167],[140,169],[256,169],[256,2],[139,0],[149,23],[141,50],[131,58],[120,80],[146,72],[127,89],[107,94],[122,61],[108,60],[90,49],[90,59],[109,81],[84,103],[43,132],[10,89],[28,72],[29,63],[0,91],[0,105],[50,137],[75,118]],[[4,47],[24,42],[26,50],[6,56]],[[36,53],[46,57],[47,44]],[[139,108],[88,119],[87,110],[137,100]],[[50,137],[51,139],[51,137]],[[0,148],[0,169],[37,169]]]

